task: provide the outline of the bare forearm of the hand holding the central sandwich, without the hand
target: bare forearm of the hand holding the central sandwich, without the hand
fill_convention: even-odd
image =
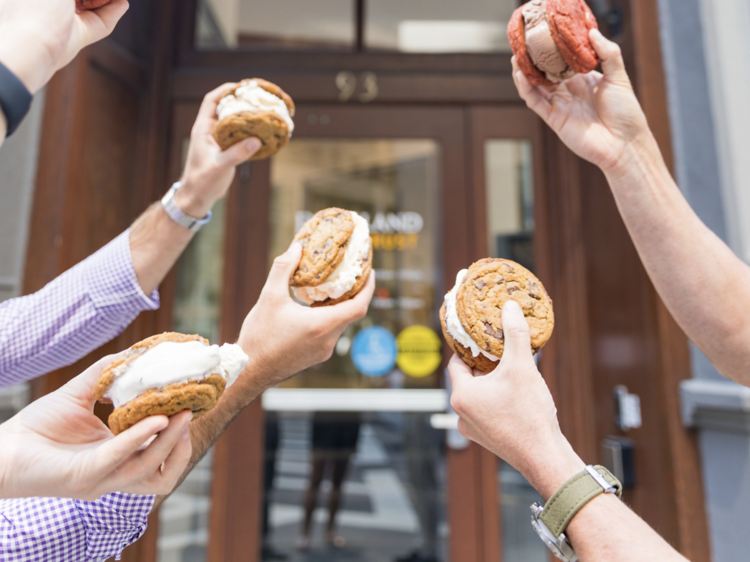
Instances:
[[[245,408],[253,403],[268,387],[259,368],[248,367],[240,375],[240,379],[228,388],[216,407],[190,424],[190,441],[193,453],[190,462],[175,489],[182,484],[187,475],[197,465],[206,453],[214,446],[232,422]],[[158,496],[154,507],[162,504],[168,496]]]

